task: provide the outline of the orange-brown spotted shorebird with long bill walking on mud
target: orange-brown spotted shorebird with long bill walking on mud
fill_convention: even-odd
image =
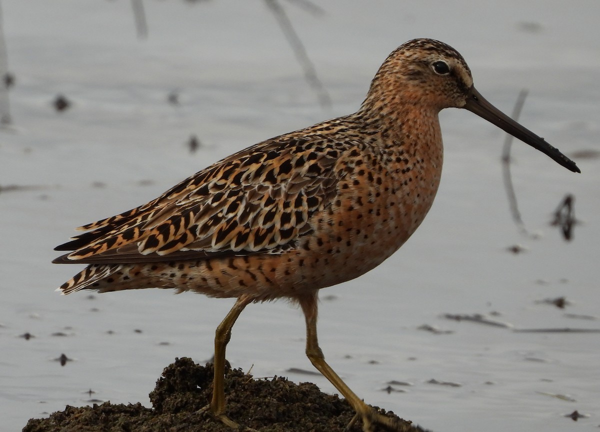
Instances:
[[[288,298],[304,312],[306,354],[362,419],[403,428],[367,406],[325,362],[317,342],[319,289],[377,267],[410,237],[442,174],[438,113],[465,108],[580,172],[543,138],[473,87],[463,57],[416,39],[380,67],[354,114],[241,150],[128,212],[81,226],[56,263],[89,264],[59,288],[174,288],[236,298],[215,334],[214,388],[204,411],[226,414],[225,349],[249,303]]]

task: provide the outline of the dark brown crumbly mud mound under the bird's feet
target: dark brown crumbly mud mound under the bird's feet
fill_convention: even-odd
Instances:
[[[354,416],[346,400],[323,394],[307,382],[297,385],[282,377],[256,380],[239,369],[230,369],[225,388],[227,415],[261,432],[342,432]],[[212,416],[197,413],[208,404],[211,392],[211,364],[200,366],[190,358],[176,359],[164,369],[150,393],[152,408],[110,402],[67,406],[49,418],[29,420],[23,432],[232,432]],[[406,432],[422,431],[399,420],[406,425]],[[361,431],[358,421],[349,432]]]

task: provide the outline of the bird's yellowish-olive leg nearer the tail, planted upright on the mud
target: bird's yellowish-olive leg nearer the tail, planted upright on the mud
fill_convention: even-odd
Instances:
[[[236,430],[247,430],[254,431],[250,428],[244,428],[238,425],[235,421],[227,417],[225,414],[225,388],[224,388],[224,376],[225,376],[225,349],[227,343],[231,339],[231,329],[235,324],[236,319],[242,310],[251,303],[252,298],[249,296],[242,295],[236,300],[235,304],[227,313],[227,316],[218,325],[217,331],[215,331],[215,358],[213,362],[214,367],[214,378],[212,380],[212,399],[208,406],[205,406],[200,410],[201,413],[210,410],[212,415],[219,419],[223,424],[236,429]]]

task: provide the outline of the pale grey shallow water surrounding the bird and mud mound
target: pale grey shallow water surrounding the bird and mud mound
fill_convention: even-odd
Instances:
[[[128,2],[2,2],[17,85],[13,128],[0,131],[0,186],[26,186],[0,190],[2,431],[90,398],[148,405],[173,358],[211,357],[214,329],[233,303],[160,290],[64,297],[53,289],[79,267],[50,264],[56,244],[235,150],[356,110],[383,59],[410,38],[457,48],[479,91],[506,112],[529,89],[521,122],[567,155],[600,150],[596,1],[482,10],[468,1],[367,8],[337,0],[322,5],[322,16],[283,2],[331,109],[319,107],[262,2],[144,4],[149,37],[139,41]],[[179,105],[167,103],[173,91]],[[63,113],[51,106],[58,93],[73,101]],[[600,334],[517,333],[442,315],[497,312],[490,318],[516,329],[600,328],[600,159],[578,159],[576,175],[513,144],[520,210],[539,234],[527,238],[502,186],[503,132],[462,110],[440,118],[446,160],[436,203],[392,258],[322,292],[326,358],[367,403],[431,430],[595,429]],[[193,154],[191,134],[201,141]],[[570,243],[548,226],[566,193],[582,221]],[[526,252],[508,252],[514,244]],[[537,303],[560,296],[572,302],[565,310]],[[20,337],[27,332],[35,337]],[[73,359],[64,367],[53,361],[62,353]],[[301,313],[284,301],[248,307],[227,358],[257,377],[287,375],[335,391],[323,377],[286,372],[313,368]],[[388,394],[391,380],[412,385]],[[574,410],[590,417],[563,417]]]

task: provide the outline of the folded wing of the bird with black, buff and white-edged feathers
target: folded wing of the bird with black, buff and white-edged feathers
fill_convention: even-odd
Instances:
[[[314,138],[289,134],[257,144],[148,204],[84,225],[92,231],[59,246],[75,250],[55,262],[164,261],[280,250],[309,231],[309,217],[335,195],[334,165],[341,150],[316,148],[323,140]]]

